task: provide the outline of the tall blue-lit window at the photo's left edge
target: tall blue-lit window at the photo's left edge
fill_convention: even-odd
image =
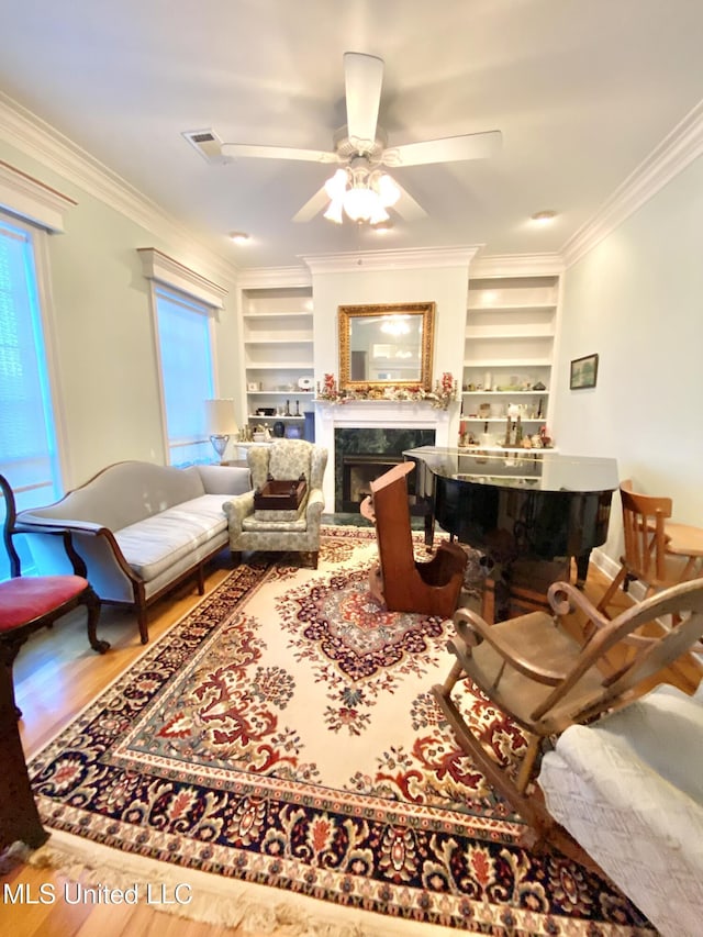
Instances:
[[[0,471],[19,510],[62,493],[37,280],[44,236],[0,215]],[[16,546],[29,568],[29,554],[21,542]],[[3,554],[0,579],[9,575]]]

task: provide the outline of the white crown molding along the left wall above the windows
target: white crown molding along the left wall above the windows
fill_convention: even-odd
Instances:
[[[2,91],[0,125],[3,140],[22,153],[146,228],[149,234],[176,243],[183,254],[198,255],[217,276],[236,280],[238,268],[231,260],[194,239],[178,219]]]

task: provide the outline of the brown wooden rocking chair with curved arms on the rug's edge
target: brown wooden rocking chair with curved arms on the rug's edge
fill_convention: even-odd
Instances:
[[[454,615],[457,634],[447,645],[456,661],[444,685],[433,687],[432,692],[460,747],[528,823],[526,845],[535,848],[549,841],[589,865],[583,850],[549,816],[542,792],[531,783],[539,756],[568,726],[590,723],[661,682],[657,674],[703,634],[703,579],[663,590],[612,621],[567,582],[554,583],[548,599],[554,615],[532,612],[495,625],[459,609]],[[589,621],[582,642],[565,628],[566,617],[577,609]],[[667,615],[674,625],[663,634],[638,633]],[[626,646],[627,654],[617,654],[620,646]],[[624,660],[615,668],[609,662],[613,651],[613,659]],[[527,750],[520,766],[501,766],[467,726],[450,695],[467,677],[525,730]]]

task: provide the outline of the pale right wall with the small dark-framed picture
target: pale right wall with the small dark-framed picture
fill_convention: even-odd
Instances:
[[[703,158],[567,270],[554,432],[562,451],[615,456],[621,479],[703,526]],[[600,355],[598,384],[569,362]],[[604,551],[620,555],[620,501]]]

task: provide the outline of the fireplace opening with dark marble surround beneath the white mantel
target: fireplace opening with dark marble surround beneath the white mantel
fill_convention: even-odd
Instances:
[[[434,430],[335,428],[335,512],[358,513],[373,479],[401,462],[405,449],[432,446],[434,442]],[[408,482],[412,497],[412,475]]]

